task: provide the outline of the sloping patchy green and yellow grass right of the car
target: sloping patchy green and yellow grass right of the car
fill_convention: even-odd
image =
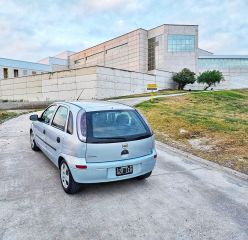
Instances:
[[[248,173],[248,90],[190,93],[137,107],[158,140]]]

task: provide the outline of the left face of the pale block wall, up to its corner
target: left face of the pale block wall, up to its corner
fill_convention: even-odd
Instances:
[[[0,99],[24,101],[75,100],[95,98],[96,67],[3,79]]]

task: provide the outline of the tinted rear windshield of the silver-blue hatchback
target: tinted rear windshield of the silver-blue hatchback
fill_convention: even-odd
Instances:
[[[134,141],[152,135],[135,110],[87,112],[87,142],[113,143]]]

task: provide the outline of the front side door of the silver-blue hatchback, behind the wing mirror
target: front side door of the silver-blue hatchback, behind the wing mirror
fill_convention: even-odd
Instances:
[[[46,131],[47,127],[50,124],[50,121],[53,117],[56,105],[51,105],[41,114],[41,117],[38,121],[33,122],[33,131],[35,134],[35,141],[37,145],[43,150],[44,153],[47,153],[47,140],[46,140]]]

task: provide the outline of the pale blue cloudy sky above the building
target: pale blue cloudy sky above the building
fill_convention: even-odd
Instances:
[[[199,25],[199,47],[248,55],[248,0],[0,0],[0,57],[38,61],[136,28]]]

